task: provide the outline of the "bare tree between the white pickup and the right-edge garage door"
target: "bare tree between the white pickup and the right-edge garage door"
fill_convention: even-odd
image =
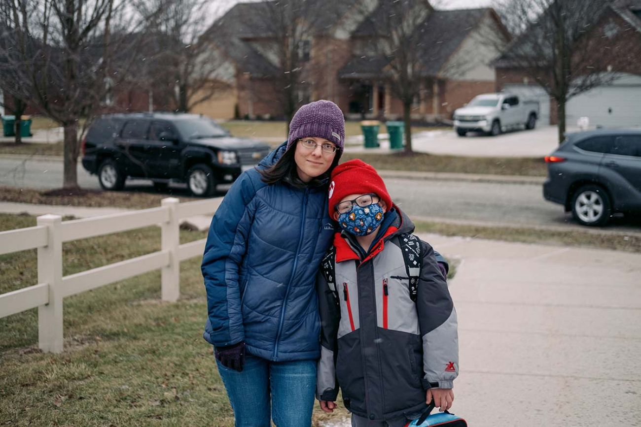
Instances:
[[[495,65],[524,72],[554,100],[559,142],[565,138],[567,102],[595,86],[612,83],[617,78],[612,70],[625,67],[634,56],[621,50],[619,39],[595,34],[601,17],[614,3],[611,0],[497,3],[499,14],[517,36]],[[618,47],[619,52],[611,47]],[[636,52],[638,57],[641,54],[638,47]]]

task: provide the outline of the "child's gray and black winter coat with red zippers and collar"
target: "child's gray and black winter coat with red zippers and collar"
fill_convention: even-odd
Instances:
[[[458,375],[456,311],[434,250],[421,241],[416,301],[399,236],[410,218],[394,221],[365,254],[353,236],[336,234],[335,289],[317,277],[321,322],[317,398],[342,389],[350,412],[371,420],[414,415],[430,387],[451,389]]]

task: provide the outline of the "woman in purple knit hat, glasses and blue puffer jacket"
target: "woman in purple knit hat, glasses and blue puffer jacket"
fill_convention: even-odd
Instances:
[[[315,275],[333,238],[328,181],[345,140],[330,101],[301,107],[289,138],[231,186],[203,265],[208,320],[236,426],[310,426],[320,323]],[[271,412],[271,414],[270,414]]]

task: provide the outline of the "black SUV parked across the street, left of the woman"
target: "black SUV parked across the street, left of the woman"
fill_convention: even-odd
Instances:
[[[163,188],[187,182],[192,194],[210,196],[269,153],[269,145],[234,138],[212,119],[194,114],[132,113],[97,118],[83,140],[82,164],[104,189],[128,177]]]

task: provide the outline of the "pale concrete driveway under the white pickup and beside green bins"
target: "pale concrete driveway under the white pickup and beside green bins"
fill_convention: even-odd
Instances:
[[[578,131],[568,128],[568,132]],[[359,143],[360,141],[360,143]],[[363,149],[362,136],[348,138],[345,152],[389,152],[387,134],[380,134],[380,149]],[[356,145],[358,144],[358,145]],[[470,157],[544,157],[558,147],[556,126],[541,126],[531,131],[513,131],[499,136],[469,133],[458,136],[453,129],[427,131],[412,135],[412,148],[430,154]]]

